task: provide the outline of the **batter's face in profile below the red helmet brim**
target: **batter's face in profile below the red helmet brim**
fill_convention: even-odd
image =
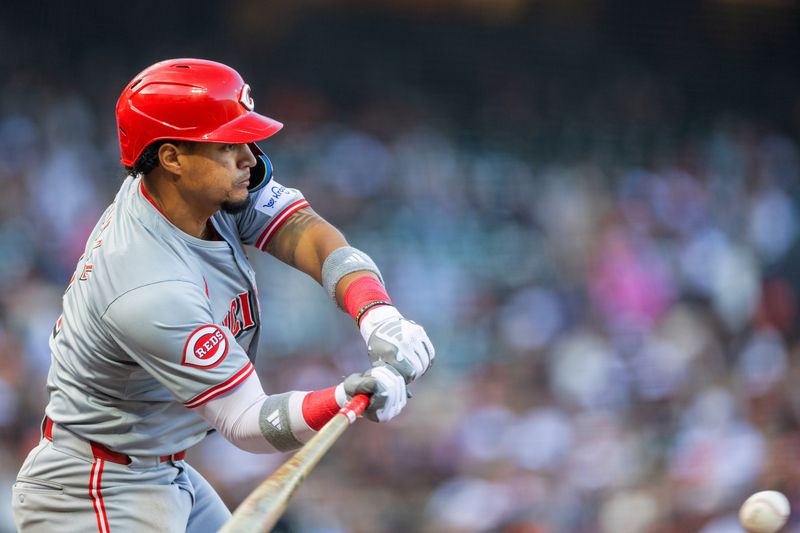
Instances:
[[[186,195],[192,202],[236,211],[248,202],[247,185],[256,158],[246,144],[194,143],[181,154]]]

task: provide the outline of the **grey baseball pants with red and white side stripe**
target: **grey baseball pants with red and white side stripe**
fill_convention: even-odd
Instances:
[[[113,455],[58,425],[28,454],[12,491],[21,533],[216,532],[230,511],[183,460]]]

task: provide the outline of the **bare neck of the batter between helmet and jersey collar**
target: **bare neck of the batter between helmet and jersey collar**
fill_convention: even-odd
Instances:
[[[178,229],[197,237],[206,238],[208,220],[214,213],[191,205],[167,179],[148,174],[142,178],[143,194],[158,211]]]

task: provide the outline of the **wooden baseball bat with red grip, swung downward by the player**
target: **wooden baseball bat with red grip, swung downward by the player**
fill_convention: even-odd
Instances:
[[[267,533],[278,522],[294,492],[333,443],[364,412],[369,397],[356,394],[302,448],[265,479],[236,508],[219,533]]]

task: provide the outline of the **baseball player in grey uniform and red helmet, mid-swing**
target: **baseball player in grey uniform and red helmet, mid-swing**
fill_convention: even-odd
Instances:
[[[157,63],[122,92],[129,175],[53,328],[42,440],[12,495],[20,531],[217,531],[230,512],[184,461],[187,448],[216,430],[251,452],[292,450],[356,393],[371,394],[367,418],[386,422],[433,361],[369,256],[273,179],[254,143],[282,124],[253,108],[235,70],[199,59]],[[245,246],[316,279],[356,320],[369,370],[266,394]]]

